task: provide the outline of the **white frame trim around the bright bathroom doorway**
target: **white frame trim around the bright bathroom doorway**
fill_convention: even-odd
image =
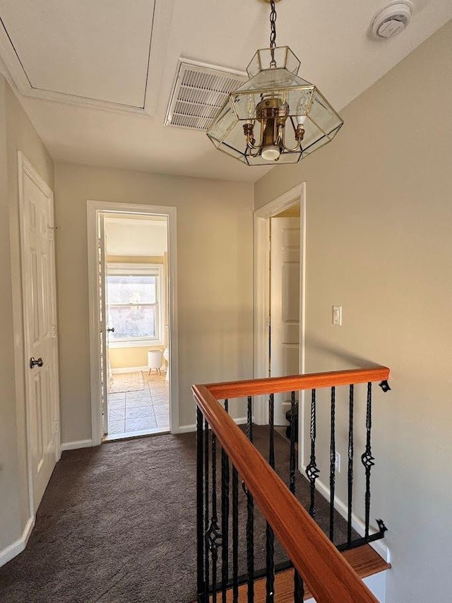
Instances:
[[[177,350],[177,208],[169,205],[134,205],[108,201],[87,201],[88,225],[88,295],[90,337],[91,434],[93,446],[102,443],[100,420],[100,350],[99,304],[97,303],[97,215],[99,213],[162,215],[168,220],[169,276],[169,387],[172,434],[179,432],[179,369]]]

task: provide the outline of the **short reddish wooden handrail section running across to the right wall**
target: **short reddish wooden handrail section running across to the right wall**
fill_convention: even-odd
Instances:
[[[389,369],[386,366],[377,366],[374,369],[352,369],[350,371],[310,373],[307,375],[292,375],[290,377],[208,383],[206,387],[215,398],[224,400],[225,398],[242,398],[248,395],[349,386],[356,383],[369,383],[369,381],[385,381],[388,378]]]

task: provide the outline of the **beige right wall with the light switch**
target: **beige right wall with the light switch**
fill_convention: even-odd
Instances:
[[[307,371],[391,368],[392,391],[375,396],[371,498],[389,528],[386,603],[451,600],[451,40],[449,22],[343,111],[331,145],[255,188],[258,208],[307,182]],[[344,478],[343,403],[338,415]],[[362,412],[357,424],[362,451]],[[328,448],[320,462],[328,482]]]

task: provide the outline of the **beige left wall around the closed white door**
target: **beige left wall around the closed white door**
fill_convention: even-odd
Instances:
[[[0,551],[22,536],[29,515],[20,305],[18,150],[53,189],[52,159],[11,88],[0,76],[0,272],[4,280],[0,297]]]

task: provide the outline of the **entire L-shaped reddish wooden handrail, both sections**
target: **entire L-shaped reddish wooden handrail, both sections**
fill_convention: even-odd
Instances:
[[[388,376],[389,369],[381,367],[192,387],[199,409],[318,603],[377,603],[377,599],[225,412],[218,398],[367,383]]]

